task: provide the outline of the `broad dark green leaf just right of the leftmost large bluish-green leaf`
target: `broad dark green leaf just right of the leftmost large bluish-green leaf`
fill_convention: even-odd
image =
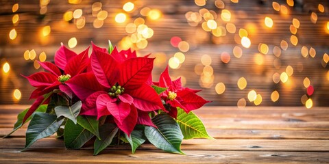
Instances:
[[[93,137],[93,133],[90,133],[90,131],[80,126],[80,124],[74,124],[73,121],[67,120],[64,128],[64,143],[66,148],[79,149]]]

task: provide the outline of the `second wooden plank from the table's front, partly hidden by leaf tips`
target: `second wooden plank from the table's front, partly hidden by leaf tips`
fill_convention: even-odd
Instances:
[[[23,149],[25,139],[0,139],[1,149]],[[329,152],[329,140],[320,139],[189,139],[182,143],[182,150],[225,150],[225,151],[276,151],[276,152]],[[29,150],[63,150],[64,141],[54,138],[40,139]],[[84,150],[93,150],[93,142]],[[107,148],[108,150],[130,150],[129,144]],[[145,143],[138,150],[158,150]]]

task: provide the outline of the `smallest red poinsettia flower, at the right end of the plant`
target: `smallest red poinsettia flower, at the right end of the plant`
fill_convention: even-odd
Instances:
[[[159,87],[167,87],[167,90],[162,92],[160,97],[166,102],[166,104],[169,105],[169,115],[171,115],[173,118],[177,117],[177,107],[184,109],[184,111],[188,113],[192,110],[202,107],[207,102],[210,102],[204,100],[204,98],[196,94],[199,92],[199,90],[182,87],[180,78],[176,79],[175,81],[171,81],[171,78],[169,77],[168,66],[164,72],[160,74],[159,82],[155,82],[154,84],[158,85]]]

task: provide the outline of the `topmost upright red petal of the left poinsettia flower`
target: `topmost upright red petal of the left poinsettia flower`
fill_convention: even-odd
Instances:
[[[62,45],[60,46],[60,49],[58,49],[58,51],[55,53],[55,64],[60,69],[64,70],[69,60],[76,55],[77,54],[75,52],[67,49],[66,46]]]

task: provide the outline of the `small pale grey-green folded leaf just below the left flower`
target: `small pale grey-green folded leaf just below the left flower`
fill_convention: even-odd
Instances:
[[[82,107],[82,102],[78,101],[75,102],[74,105],[71,107],[68,106],[57,106],[55,107],[55,112],[57,115],[57,118],[60,118],[60,116],[64,116],[65,118],[69,118],[74,122],[74,124],[77,124],[77,115],[80,113],[80,109]]]

